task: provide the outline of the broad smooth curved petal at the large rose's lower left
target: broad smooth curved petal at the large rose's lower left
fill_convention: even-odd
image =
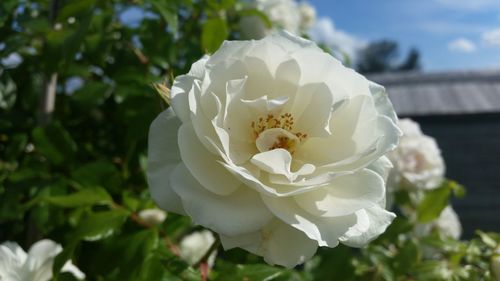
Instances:
[[[252,189],[241,186],[230,195],[219,196],[201,186],[183,164],[174,169],[170,183],[193,221],[217,233],[253,232],[273,217]]]

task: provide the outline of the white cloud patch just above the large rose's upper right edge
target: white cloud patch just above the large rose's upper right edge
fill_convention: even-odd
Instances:
[[[364,40],[335,28],[332,19],[326,17],[319,18],[309,34],[314,41],[347,54],[351,61],[356,60],[357,52],[367,44]]]

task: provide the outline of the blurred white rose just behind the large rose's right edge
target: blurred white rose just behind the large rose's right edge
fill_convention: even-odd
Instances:
[[[433,189],[443,181],[445,165],[434,138],[426,136],[420,126],[410,120],[399,120],[403,136],[389,158],[394,165],[391,189]]]

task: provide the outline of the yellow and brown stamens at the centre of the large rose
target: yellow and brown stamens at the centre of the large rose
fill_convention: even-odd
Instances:
[[[260,152],[283,148],[293,154],[297,145],[307,138],[307,134],[293,132],[293,116],[284,113],[278,116],[268,114],[252,122],[255,145]]]

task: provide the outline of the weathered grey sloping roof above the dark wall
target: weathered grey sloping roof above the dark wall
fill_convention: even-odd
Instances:
[[[500,70],[384,73],[368,79],[385,86],[400,116],[500,113]]]

